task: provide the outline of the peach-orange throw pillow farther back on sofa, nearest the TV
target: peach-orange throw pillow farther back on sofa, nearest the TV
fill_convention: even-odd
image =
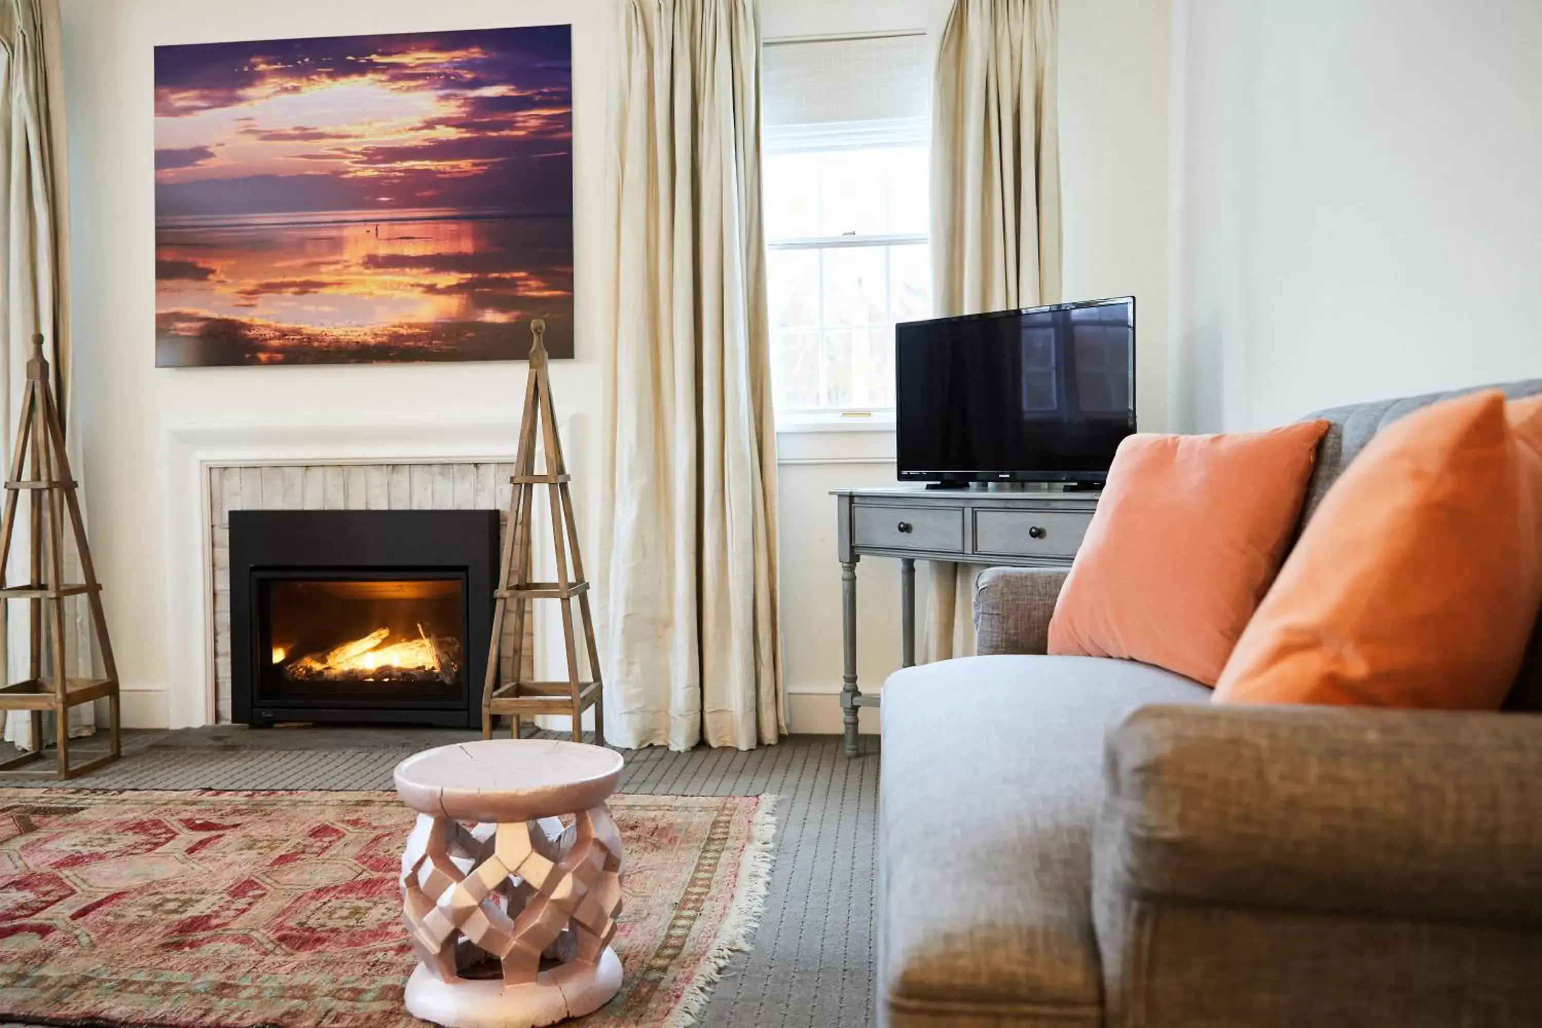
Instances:
[[[1214,686],[1280,570],[1326,421],[1119,444],[1050,618],[1050,653]]]

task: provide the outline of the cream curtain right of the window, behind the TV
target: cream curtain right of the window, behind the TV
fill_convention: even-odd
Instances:
[[[938,316],[1055,304],[1061,290],[1056,0],[954,0],[931,102]],[[982,569],[931,566],[922,660],[975,652]]]

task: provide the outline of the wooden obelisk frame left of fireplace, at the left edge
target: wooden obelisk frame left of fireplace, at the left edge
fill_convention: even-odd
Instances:
[[[31,573],[25,586],[6,583],[11,558],[11,543],[15,538],[15,516],[22,495],[28,498],[28,550]],[[76,538],[80,556],[82,581],[65,581],[65,519]],[[91,606],[91,624],[96,629],[106,678],[69,678],[69,663],[65,649],[65,598],[85,596]],[[72,778],[96,771],[119,757],[119,701],[117,664],[113,661],[113,643],[106,637],[106,618],[102,613],[102,586],[97,584],[91,566],[91,549],[86,546],[86,527],[80,518],[80,499],[69,473],[69,458],[65,455],[65,433],[59,421],[59,407],[48,382],[48,361],[43,358],[43,336],[32,336],[32,359],[26,362],[26,385],[22,395],[22,422],[15,433],[15,455],[11,458],[11,476],[5,482],[5,518],[0,521],[0,603],[5,618],[0,618],[0,677],[9,669],[8,632],[9,601],[25,600],[31,607],[29,674],[25,681],[0,686],[0,717],[8,711],[32,714],[32,749],[11,760],[0,761],[0,774],[25,775],[15,771],[22,764],[43,757],[43,711],[54,712],[56,777]],[[46,615],[46,616],[45,616]],[[45,626],[48,629],[49,658],[45,661]],[[91,646],[88,638],[77,646]],[[46,666],[46,667],[45,667]],[[108,752],[94,760],[69,766],[69,707],[93,700],[106,698],[109,717]]]

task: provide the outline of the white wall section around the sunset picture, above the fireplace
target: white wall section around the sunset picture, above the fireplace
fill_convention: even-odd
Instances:
[[[393,425],[509,421],[513,452],[524,362],[378,367],[156,368],[153,48],[293,35],[574,25],[577,359],[552,365],[571,416],[577,475],[598,469],[600,210],[612,18],[608,0],[65,0],[74,333],[93,555],[128,724],[165,724],[167,430],[185,425]],[[456,456],[456,455],[444,455]],[[592,493],[591,493],[592,495]],[[594,512],[584,512],[595,552]],[[196,522],[194,522],[196,524]]]

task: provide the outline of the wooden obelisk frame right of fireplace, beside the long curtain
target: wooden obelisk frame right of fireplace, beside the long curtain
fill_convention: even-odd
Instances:
[[[530,322],[535,342],[530,345],[530,375],[524,384],[524,415],[520,422],[520,450],[513,462],[513,495],[509,499],[509,526],[503,541],[503,572],[498,576],[497,603],[492,615],[492,649],[487,653],[487,683],[483,687],[483,738],[492,738],[495,714],[513,718],[513,737],[520,735],[520,718],[537,714],[572,717],[574,741],[583,741],[583,712],[594,707],[594,738],[604,746],[604,697],[600,681],[600,652],[594,644],[594,620],[589,615],[589,581],[583,576],[578,555],[578,529],[574,501],[567,492],[567,469],[563,444],[557,438],[557,410],[552,405],[552,384],[546,368],[546,345],[541,334],[546,322]],[[537,433],[544,448],[546,470],[535,470]],[[552,515],[552,544],[557,550],[557,581],[530,581],[530,527],[535,521],[537,487],[547,489]],[[571,570],[569,570],[571,558]],[[555,600],[563,615],[563,646],[567,657],[567,681],[532,681],[526,678],[524,618],[526,600]],[[583,618],[584,649],[592,681],[580,680],[578,641],[574,635],[574,600]],[[498,681],[498,655],[504,646],[504,618],[513,613],[513,681]]]

